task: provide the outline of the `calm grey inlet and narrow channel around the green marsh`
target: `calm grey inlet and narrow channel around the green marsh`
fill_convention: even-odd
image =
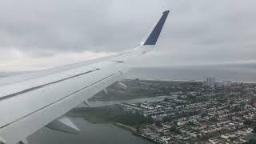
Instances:
[[[158,102],[164,98],[166,96],[123,101],[96,101],[90,102],[90,106],[108,106],[122,102]],[[44,127],[32,134],[28,141],[30,144],[154,144],[110,123],[93,124],[82,118],[72,118],[72,121],[80,128],[81,134],[66,134]]]

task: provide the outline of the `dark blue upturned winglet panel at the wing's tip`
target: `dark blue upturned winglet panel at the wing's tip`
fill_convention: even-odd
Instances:
[[[162,13],[162,17],[158,21],[157,25],[154,26],[154,30],[152,30],[149,38],[146,39],[146,42],[144,42],[143,45],[155,45],[155,43],[158,41],[158,37],[161,33],[162,26],[165,24],[169,12],[170,10],[166,10]]]

